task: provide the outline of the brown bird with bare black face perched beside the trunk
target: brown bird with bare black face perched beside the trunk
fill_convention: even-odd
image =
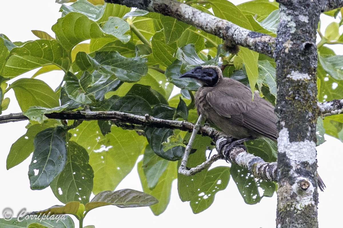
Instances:
[[[182,74],[180,78],[194,78],[201,84],[195,96],[198,115],[242,143],[261,136],[277,140],[277,116],[274,106],[248,86],[223,77],[222,70],[214,65],[202,65]],[[237,145],[237,144],[234,144]],[[325,184],[317,174],[318,187]]]

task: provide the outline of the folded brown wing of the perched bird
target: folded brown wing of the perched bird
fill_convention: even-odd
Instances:
[[[259,96],[252,101],[250,89],[240,82],[221,83],[206,95],[206,100],[219,115],[268,138],[277,138],[274,107]]]

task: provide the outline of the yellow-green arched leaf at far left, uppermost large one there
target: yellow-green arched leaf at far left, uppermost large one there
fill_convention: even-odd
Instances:
[[[29,70],[51,64],[67,72],[70,67],[68,52],[56,40],[35,40],[11,50],[3,73],[14,78]]]

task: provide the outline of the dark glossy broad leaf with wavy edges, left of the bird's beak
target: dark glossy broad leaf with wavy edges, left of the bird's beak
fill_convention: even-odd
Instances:
[[[97,52],[94,59],[101,65],[100,73],[114,75],[123,82],[139,81],[147,73],[145,58],[126,58],[116,51],[102,51]]]

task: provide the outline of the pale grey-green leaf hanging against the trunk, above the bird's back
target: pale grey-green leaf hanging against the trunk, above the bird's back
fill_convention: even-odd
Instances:
[[[269,87],[269,91],[275,97],[277,96],[276,75],[275,68],[270,64],[268,60],[258,61],[258,78],[257,85],[261,91],[262,84]]]

